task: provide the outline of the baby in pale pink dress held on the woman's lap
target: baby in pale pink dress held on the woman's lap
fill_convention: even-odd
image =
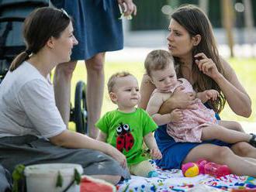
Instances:
[[[148,102],[147,112],[154,118],[157,125],[168,124],[168,135],[171,135],[175,142],[202,142],[209,139],[220,139],[227,143],[244,141],[256,146],[254,135],[239,130],[240,125],[237,122],[217,121],[215,112],[202,104],[202,101],[216,100],[220,96],[216,90],[196,93],[197,109],[176,108],[168,114],[158,113],[161,105],[171,97],[177,87],[185,92],[194,91],[189,81],[184,78],[177,79],[174,59],[168,51],[151,51],[145,60],[145,69],[156,87]]]

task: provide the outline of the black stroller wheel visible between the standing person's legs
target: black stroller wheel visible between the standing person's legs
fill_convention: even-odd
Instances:
[[[87,106],[86,106],[86,85],[83,81],[78,81],[75,87],[74,98],[74,122],[77,132],[88,135],[87,128]]]

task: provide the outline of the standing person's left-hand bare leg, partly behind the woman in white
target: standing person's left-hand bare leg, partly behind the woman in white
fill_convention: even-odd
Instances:
[[[67,125],[71,111],[71,78],[77,61],[57,65],[54,73],[54,96],[61,117]]]

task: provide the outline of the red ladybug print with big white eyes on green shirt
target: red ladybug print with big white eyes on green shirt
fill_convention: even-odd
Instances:
[[[123,149],[126,149],[128,152],[133,147],[133,135],[130,134],[130,126],[128,124],[119,123],[119,126],[116,128],[117,138],[116,138],[116,148],[120,152],[123,152]]]

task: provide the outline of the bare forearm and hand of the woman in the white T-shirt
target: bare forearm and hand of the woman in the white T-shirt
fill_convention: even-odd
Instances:
[[[126,156],[106,142],[100,142],[81,133],[71,132],[67,129],[61,132],[61,134],[49,139],[50,142],[56,146],[63,146],[73,149],[94,149],[101,151],[102,153],[112,156],[112,158],[116,159],[121,166],[126,167]]]

